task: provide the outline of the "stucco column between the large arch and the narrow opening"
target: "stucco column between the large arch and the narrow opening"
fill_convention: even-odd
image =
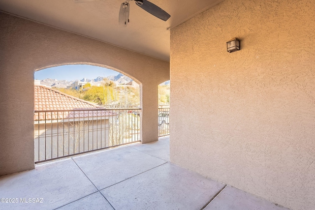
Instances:
[[[140,85],[140,107],[142,144],[158,141],[158,85]]]

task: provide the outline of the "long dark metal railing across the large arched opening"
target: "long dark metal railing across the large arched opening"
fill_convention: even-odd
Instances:
[[[140,140],[141,109],[34,111],[35,163]]]

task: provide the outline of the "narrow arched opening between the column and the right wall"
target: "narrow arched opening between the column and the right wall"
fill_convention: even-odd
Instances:
[[[158,137],[169,135],[170,81],[158,85]]]

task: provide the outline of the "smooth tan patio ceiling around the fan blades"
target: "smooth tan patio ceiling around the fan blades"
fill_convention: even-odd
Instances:
[[[173,28],[222,0],[150,0],[167,11],[164,22],[130,1],[130,23],[118,26],[124,0],[0,0],[0,10],[56,28],[85,35],[161,60],[169,60]]]

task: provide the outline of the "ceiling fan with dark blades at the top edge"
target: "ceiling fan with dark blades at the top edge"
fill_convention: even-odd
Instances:
[[[89,1],[95,1],[95,0],[74,0],[75,2],[89,2]],[[129,10],[130,5],[129,1],[132,0],[126,0],[124,3],[120,6],[119,11],[119,26],[126,27],[129,23]],[[149,12],[150,14],[156,16],[157,18],[167,21],[171,16],[167,12],[165,12],[163,9],[155,5],[154,3],[151,3],[148,0],[134,0],[135,3],[144,9],[145,11]]]

